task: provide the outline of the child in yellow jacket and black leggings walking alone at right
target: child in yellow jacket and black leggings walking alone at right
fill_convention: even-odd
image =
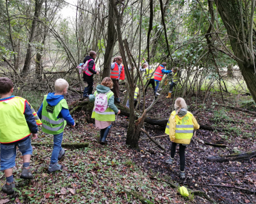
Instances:
[[[200,126],[191,112],[187,111],[187,104],[184,99],[177,98],[175,101],[175,111],[170,114],[165,133],[169,134],[172,147],[170,150],[170,158],[166,161],[172,165],[176,145],[180,145],[180,178],[185,178],[185,148],[190,144],[193,137],[194,129],[199,129]]]

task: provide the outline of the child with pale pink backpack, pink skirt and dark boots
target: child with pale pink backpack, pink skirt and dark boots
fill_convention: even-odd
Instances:
[[[91,118],[95,118],[95,127],[101,130],[101,137],[99,139],[99,143],[101,144],[108,143],[106,136],[108,136],[108,132],[111,129],[111,121],[115,121],[115,114],[120,114],[121,112],[114,104],[115,99],[113,92],[110,90],[112,86],[113,82],[111,78],[105,77],[101,85],[96,87],[97,90],[94,94],[89,97],[90,101],[95,101]],[[100,100],[103,101],[102,105],[104,105],[104,109],[102,109],[103,106],[98,105],[101,103]]]

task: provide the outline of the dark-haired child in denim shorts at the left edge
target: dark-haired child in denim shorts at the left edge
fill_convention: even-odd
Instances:
[[[30,172],[30,158],[33,152],[30,134],[37,138],[38,116],[31,111],[33,108],[22,97],[12,96],[13,83],[7,77],[0,77],[0,143],[1,143],[1,170],[4,170],[6,184],[2,191],[13,194],[15,181],[12,167],[15,166],[16,147],[23,156],[23,169],[20,178],[33,179]],[[37,119],[37,122],[35,121]]]

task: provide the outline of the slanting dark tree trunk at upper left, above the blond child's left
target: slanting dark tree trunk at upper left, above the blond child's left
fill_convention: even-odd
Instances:
[[[30,32],[29,45],[27,46],[27,54],[26,54],[26,59],[25,59],[24,67],[23,67],[23,74],[26,74],[29,71],[30,61],[31,61],[31,53],[32,53],[31,42],[33,42],[33,39],[35,37],[35,28],[37,27],[37,19],[40,14],[42,2],[43,2],[43,0],[35,0],[35,13],[34,13],[33,23],[32,23],[32,27],[31,27],[31,32]]]

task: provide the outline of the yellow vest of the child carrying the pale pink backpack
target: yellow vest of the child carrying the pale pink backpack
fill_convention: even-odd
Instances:
[[[96,97],[96,94],[98,92],[94,92],[94,96]],[[108,100],[111,96],[113,96],[113,92],[109,92],[106,94],[106,96],[108,97]],[[95,106],[94,106],[95,108]],[[115,121],[116,120],[116,116],[115,116],[115,112],[109,108],[106,108],[105,112],[102,112],[101,114],[97,113],[94,111],[94,108],[93,108],[93,114],[91,114],[91,118],[95,118],[97,119],[97,121]]]

